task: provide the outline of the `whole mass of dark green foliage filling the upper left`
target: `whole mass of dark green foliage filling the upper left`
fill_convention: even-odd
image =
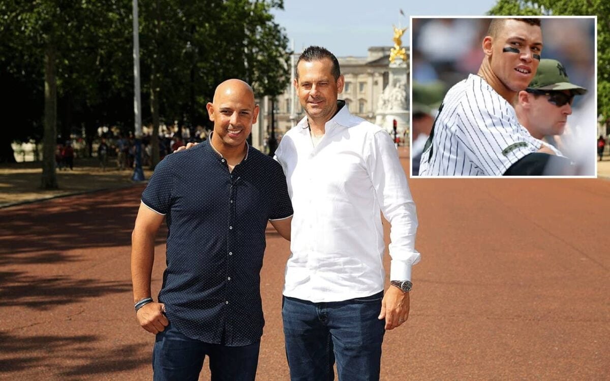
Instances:
[[[285,32],[270,13],[276,7],[283,2],[140,1],[143,121],[151,118],[151,86],[162,119],[192,125],[206,123],[205,105],[224,79],[250,82],[257,96],[281,93],[289,54]],[[22,107],[32,109],[15,115],[23,128],[11,138],[41,138],[48,43],[57,50],[60,133],[85,126],[93,135],[101,124],[133,128],[131,15],[131,0],[0,1],[0,83],[15,88]]]

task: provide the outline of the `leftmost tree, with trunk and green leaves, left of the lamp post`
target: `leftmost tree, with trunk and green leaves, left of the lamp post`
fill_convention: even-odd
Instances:
[[[9,46],[2,50],[2,63],[7,67],[3,76],[12,77],[17,82],[30,79],[44,84],[43,189],[59,186],[54,160],[58,99],[62,94],[69,94],[67,104],[71,110],[74,102],[71,99],[83,99],[82,105],[87,109],[95,105],[95,99],[99,104],[106,98],[107,94],[97,91],[99,77],[95,74],[107,69],[107,66],[99,65],[99,52],[104,49],[111,52],[112,48],[101,45],[99,41],[104,38],[100,36],[112,34],[121,20],[113,15],[120,15],[126,4],[126,0],[110,5],[86,0],[13,0],[0,4],[0,14],[3,15],[0,18],[0,37]],[[96,58],[98,62],[92,62]],[[80,95],[82,98],[76,98]],[[34,102],[24,106],[33,110],[40,107]],[[90,114],[84,112],[83,115]],[[68,126],[64,130],[69,135],[71,111],[67,119]]]

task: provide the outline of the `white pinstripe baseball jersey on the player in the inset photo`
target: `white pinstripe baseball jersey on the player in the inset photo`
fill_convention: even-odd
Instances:
[[[470,74],[445,95],[419,174],[501,176],[541,144],[519,124],[506,99],[482,77]]]

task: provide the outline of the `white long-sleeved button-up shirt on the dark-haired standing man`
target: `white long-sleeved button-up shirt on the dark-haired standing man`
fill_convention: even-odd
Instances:
[[[292,199],[284,295],[312,302],[384,288],[381,213],[390,222],[391,280],[411,280],[417,215],[392,138],[343,107],[314,147],[307,117],[282,138],[276,160]]]

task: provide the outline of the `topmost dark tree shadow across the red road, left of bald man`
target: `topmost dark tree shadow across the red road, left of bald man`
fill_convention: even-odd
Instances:
[[[141,193],[132,187],[2,210],[0,266],[76,260],[63,254],[72,249],[129,246]]]

